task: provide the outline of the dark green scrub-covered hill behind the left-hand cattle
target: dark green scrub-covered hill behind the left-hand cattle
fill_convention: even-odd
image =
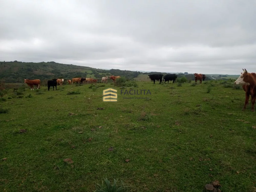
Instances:
[[[91,67],[68,65],[50,62],[19,62],[0,61],[0,79],[7,83],[23,83],[23,79],[40,79],[41,81],[53,78],[72,79],[75,77],[92,77],[101,79],[104,76],[123,76],[127,79],[137,77],[141,72],[119,69],[96,69]]]

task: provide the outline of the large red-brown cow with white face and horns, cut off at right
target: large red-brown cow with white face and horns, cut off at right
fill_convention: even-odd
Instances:
[[[256,73],[248,73],[246,69],[243,69],[244,72],[238,77],[238,79],[234,82],[236,85],[241,84],[243,90],[245,91],[245,102],[243,106],[243,111],[246,109],[246,105],[249,102],[251,95],[252,108],[254,111],[254,104],[256,99]]]

